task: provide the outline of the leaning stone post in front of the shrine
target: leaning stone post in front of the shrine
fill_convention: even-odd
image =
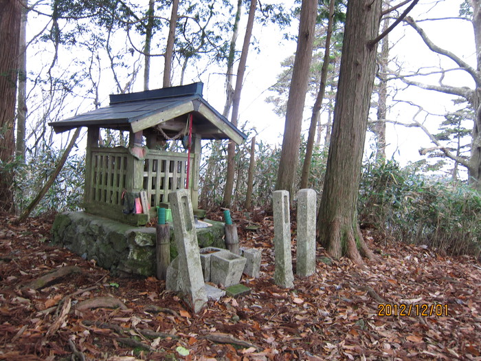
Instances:
[[[186,302],[197,314],[207,303],[208,298],[202,276],[192,203],[186,189],[170,193],[169,200],[172,208],[175,243],[179,252],[179,287],[186,297]]]

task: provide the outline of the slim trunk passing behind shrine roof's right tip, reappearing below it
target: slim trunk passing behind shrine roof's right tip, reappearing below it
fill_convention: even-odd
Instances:
[[[254,26],[254,18],[256,16],[257,0],[251,0],[249,8],[249,17],[247,18],[247,27],[245,28],[244,43],[242,45],[242,52],[240,53],[239,65],[237,68],[236,88],[234,89],[234,96],[232,96],[232,116],[230,122],[237,126],[238,113],[240,105],[240,93],[244,81],[245,65],[247,63],[247,54],[249,53],[249,44],[251,42],[252,28]],[[234,155],[236,153],[236,145],[230,141],[227,146],[227,175],[225,175],[225,189],[222,205],[225,208],[230,208],[232,201],[232,188],[234,188]]]

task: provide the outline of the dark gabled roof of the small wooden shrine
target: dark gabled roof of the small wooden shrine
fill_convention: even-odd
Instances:
[[[110,105],[58,122],[50,122],[56,133],[78,127],[101,127],[128,131],[161,127],[174,135],[185,127],[192,113],[192,132],[203,139],[231,139],[237,144],[247,135],[234,127],[202,97],[203,83],[181,85],[110,96]]]

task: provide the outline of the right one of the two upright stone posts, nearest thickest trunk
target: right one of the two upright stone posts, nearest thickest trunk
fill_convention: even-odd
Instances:
[[[315,206],[313,189],[298,192],[298,252],[295,273],[307,277],[315,272]]]

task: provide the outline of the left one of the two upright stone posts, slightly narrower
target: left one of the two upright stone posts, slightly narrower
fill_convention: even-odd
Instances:
[[[279,287],[294,287],[291,256],[291,216],[289,215],[289,192],[276,190],[272,193],[274,211],[274,282]]]

